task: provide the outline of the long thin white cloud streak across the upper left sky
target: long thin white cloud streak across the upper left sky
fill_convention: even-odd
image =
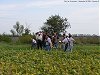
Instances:
[[[20,4],[0,4],[0,10],[17,10],[32,7],[47,8],[56,5],[62,5],[63,0],[47,0],[47,1],[32,1]]]

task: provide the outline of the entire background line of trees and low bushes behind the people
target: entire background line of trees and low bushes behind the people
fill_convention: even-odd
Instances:
[[[62,37],[60,33],[66,33],[66,28],[71,28],[70,23],[68,22],[67,18],[63,18],[59,15],[51,15],[46,22],[41,27],[43,32],[49,33],[52,35],[54,32],[59,34],[59,38]],[[18,21],[13,28],[10,30],[12,35],[8,34],[1,34],[0,35],[0,42],[6,43],[31,43],[32,38],[35,38],[34,34],[31,34],[30,28],[20,24]],[[73,38],[76,40],[76,44],[100,44],[100,37],[93,34],[93,35],[84,35],[84,34],[74,34]]]

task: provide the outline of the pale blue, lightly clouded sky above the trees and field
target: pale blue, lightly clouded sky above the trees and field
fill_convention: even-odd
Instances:
[[[68,33],[99,35],[99,2],[64,0],[0,0],[0,34],[9,34],[17,21],[37,32],[51,15],[68,19]]]

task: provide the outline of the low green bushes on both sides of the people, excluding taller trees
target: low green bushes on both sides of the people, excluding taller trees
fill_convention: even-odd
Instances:
[[[12,36],[8,34],[0,34],[0,42],[15,43],[15,44],[31,44],[34,34]],[[73,38],[76,40],[75,44],[100,44],[100,36],[97,35],[81,35],[74,34]]]

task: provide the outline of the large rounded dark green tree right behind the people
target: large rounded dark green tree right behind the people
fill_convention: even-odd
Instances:
[[[53,32],[61,33],[70,27],[68,19],[60,17],[59,15],[49,17],[41,29],[44,32],[52,34]]]

